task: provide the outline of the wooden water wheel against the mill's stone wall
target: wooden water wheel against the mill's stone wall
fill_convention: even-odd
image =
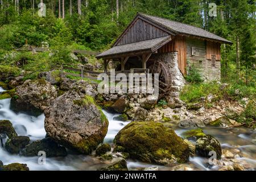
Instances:
[[[172,78],[170,69],[168,68],[168,65],[162,61],[154,61],[154,63],[149,68],[153,76],[156,73],[159,74],[158,98],[160,99],[171,90]]]

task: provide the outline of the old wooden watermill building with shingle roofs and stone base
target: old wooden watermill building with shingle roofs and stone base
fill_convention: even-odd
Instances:
[[[119,61],[121,72],[148,68],[161,73],[168,92],[170,86],[179,90],[193,67],[206,80],[219,80],[222,43],[232,44],[202,28],[138,13],[112,48],[96,57],[104,59],[105,67],[109,61]]]

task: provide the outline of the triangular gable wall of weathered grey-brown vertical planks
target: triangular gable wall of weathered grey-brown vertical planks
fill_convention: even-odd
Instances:
[[[168,33],[142,19],[137,19],[117,43],[118,46],[168,36]]]

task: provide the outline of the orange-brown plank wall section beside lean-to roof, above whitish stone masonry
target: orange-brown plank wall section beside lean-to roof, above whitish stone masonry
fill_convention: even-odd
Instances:
[[[186,38],[184,36],[175,36],[175,38],[168,44],[164,45],[158,50],[159,53],[174,52],[178,53],[179,69],[183,75],[187,74],[187,46]]]

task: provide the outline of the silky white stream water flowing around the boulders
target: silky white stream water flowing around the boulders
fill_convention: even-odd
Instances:
[[[0,94],[4,91],[0,87]],[[125,127],[129,122],[117,121],[114,118],[118,114],[111,114],[104,111],[104,114],[109,119],[108,134],[106,135],[104,142],[113,144],[115,135]],[[13,123],[14,129],[18,135],[28,136],[31,141],[43,139],[46,136],[44,130],[44,114],[38,117],[32,117],[25,113],[14,113],[10,110],[10,99],[0,100],[0,120],[7,119]],[[181,135],[184,129],[179,127],[172,127],[177,135]],[[221,129],[216,127],[205,127],[204,132],[206,134],[216,137],[222,148],[237,148],[241,151],[242,156],[237,160],[250,164],[251,169],[256,169],[256,132],[255,130],[237,128],[237,129]],[[68,151],[68,156],[58,158],[47,158],[46,164],[40,165],[38,163],[39,156],[25,157],[19,155],[11,155],[9,152],[0,145],[0,160],[4,164],[10,163],[25,163],[30,170],[96,170],[98,168],[106,166],[109,162],[102,162],[93,155],[79,155],[74,154],[72,151]],[[188,167],[197,170],[214,170],[216,168],[209,168],[207,161],[204,158],[191,158]],[[171,167],[157,166],[135,160],[127,160],[127,167],[132,170],[138,170],[143,168],[158,169],[158,170],[171,170]]]

